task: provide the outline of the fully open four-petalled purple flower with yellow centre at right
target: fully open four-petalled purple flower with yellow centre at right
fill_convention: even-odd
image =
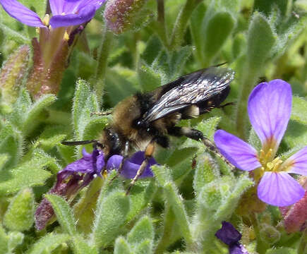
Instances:
[[[307,146],[285,162],[275,157],[291,114],[291,86],[284,80],[260,83],[248,98],[248,116],[262,143],[255,148],[226,131],[215,133],[219,151],[241,170],[254,170],[258,198],[276,206],[292,205],[305,191],[289,173],[307,175]]]

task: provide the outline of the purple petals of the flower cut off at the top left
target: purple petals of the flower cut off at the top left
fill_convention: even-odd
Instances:
[[[105,0],[49,0],[52,18],[49,24],[52,28],[80,25],[91,20],[95,12]],[[34,27],[43,28],[47,20],[41,20],[37,13],[23,6],[16,0],[0,0],[4,10],[13,18]]]

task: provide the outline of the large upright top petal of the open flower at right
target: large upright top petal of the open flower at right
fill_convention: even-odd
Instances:
[[[291,114],[291,86],[284,80],[257,85],[248,98],[248,115],[263,147],[275,152]]]

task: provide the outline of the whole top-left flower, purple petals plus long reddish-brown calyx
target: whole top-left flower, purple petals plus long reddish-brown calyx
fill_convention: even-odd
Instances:
[[[33,67],[27,87],[38,99],[59,92],[62,75],[78,35],[105,0],[50,0],[52,16],[40,18],[37,13],[16,0],[0,0],[4,10],[25,25],[39,28],[40,40],[32,38]]]

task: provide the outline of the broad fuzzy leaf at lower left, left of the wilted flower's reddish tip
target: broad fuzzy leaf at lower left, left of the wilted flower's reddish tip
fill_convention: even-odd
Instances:
[[[30,229],[34,221],[34,194],[30,188],[20,191],[11,200],[4,214],[4,225],[11,231]]]

